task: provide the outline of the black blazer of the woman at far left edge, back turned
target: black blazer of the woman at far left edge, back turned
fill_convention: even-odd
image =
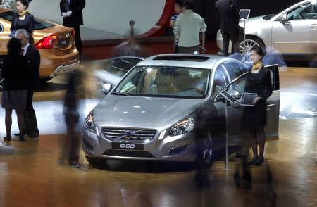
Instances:
[[[23,56],[6,56],[1,71],[4,91],[27,89],[27,60]]]

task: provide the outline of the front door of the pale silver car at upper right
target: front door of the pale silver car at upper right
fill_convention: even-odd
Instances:
[[[317,3],[305,2],[273,22],[272,46],[283,54],[313,54],[317,46]]]

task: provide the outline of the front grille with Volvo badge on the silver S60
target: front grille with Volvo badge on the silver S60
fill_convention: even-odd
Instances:
[[[102,135],[111,141],[144,141],[154,139],[156,130],[128,129],[128,128],[101,128]]]

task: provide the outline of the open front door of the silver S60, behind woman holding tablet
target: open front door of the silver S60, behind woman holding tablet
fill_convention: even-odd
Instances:
[[[271,71],[272,80],[272,95],[266,100],[266,118],[267,125],[265,127],[266,138],[267,139],[278,139],[278,129],[279,129],[279,115],[280,115],[280,77],[278,73],[278,65],[268,65],[266,66]],[[244,85],[247,80],[247,73],[240,75],[235,80],[230,82],[228,86],[225,87],[225,91],[235,90],[240,93],[244,92]],[[220,95],[216,96],[216,103],[220,104]],[[215,106],[216,106],[215,103]],[[223,106],[225,104],[223,103]],[[220,109],[220,108],[219,108]],[[225,108],[221,108],[225,110]],[[243,107],[232,107],[228,105],[228,129],[231,136],[232,142],[235,142],[235,137],[239,136],[241,133],[242,126],[242,111]]]

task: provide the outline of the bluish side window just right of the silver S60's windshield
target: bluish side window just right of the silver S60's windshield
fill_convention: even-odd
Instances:
[[[223,64],[216,69],[215,77],[213,78],[213,98],[229,83],[228,75]]]

